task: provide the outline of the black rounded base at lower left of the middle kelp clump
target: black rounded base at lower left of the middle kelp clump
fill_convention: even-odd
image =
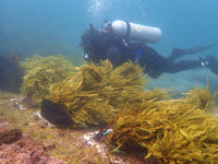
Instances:
[[[61,108],[48,99],[41,102],[41,115],[53,125],[69,125],[72,122],[71,117]]]

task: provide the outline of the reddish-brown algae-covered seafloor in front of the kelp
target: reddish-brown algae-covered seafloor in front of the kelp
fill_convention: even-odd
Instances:
[[[142,163],[130,156],[125,162],[107,156],[84,139],[99,129],[55,127],[36,115],[39,108],[25,105],[19,97],[0,92],[0,164],[106,164],[116,159],[121,164]]]

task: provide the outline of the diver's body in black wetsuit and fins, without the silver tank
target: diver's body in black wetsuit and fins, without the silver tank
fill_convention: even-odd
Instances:
[[[207,57],[205,60],[182,60],[174,62],[179,57],[195,54],[211,46],[214,45],[191,49],[174,48],[172,54],[168,58],[165,58],[144,43],[132,43],[126,38],[113,35],[110,30],[102,33],[93,28],[93,26],[84,32],[81,43],[81,47],[87,54],[86,59],[88,61],[99,62],[100,60],[109,59],[114,67],[118,67],[128,60],[132,60],[145,67],[144,72],[154,79],[164,72],[175,73],[203,66],[218,74],[218,62],[213,56]]]

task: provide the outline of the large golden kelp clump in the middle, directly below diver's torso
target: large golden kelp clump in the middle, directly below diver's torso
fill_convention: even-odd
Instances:
[[[62,105],[75,127],[104,125],[123,108],[132,108],[144,98],[154,97],[152,93],[146,96],[142,69],[133,62],[112,69],[111,62],[106,60],[99,65],[83,65],[78,70],[72,78],[53,84],[47,96]]]

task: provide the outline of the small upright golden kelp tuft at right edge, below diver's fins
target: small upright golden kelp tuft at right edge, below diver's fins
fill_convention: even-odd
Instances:
[[[185,102],[195,105],[197,108],[209,110],[214,105],[217,93],[213,94],[207,83],[205,89],[198,85],[185,93]]]

